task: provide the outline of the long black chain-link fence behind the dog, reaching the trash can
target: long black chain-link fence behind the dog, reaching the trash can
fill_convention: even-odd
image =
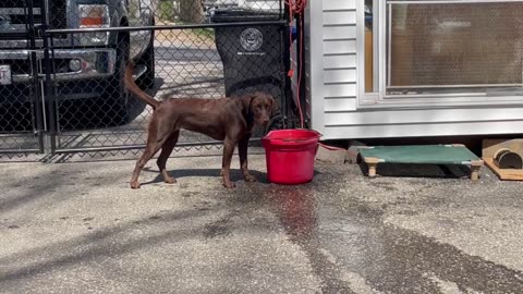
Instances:
[[[211,16],[202,23],[172,22],[159,10],[150,15],[149,23],[136,23],[139,17],[122,17],[118,25],[112,20],[106,26],[99,23],[105,22],[104,17],[93,15],[113,9],[107,5],[69,8],[68,14],[66,0],[9,1],[13,2],[10,9],[23,4],[27,23],[24,53],[29,71],[26,83],[20,85],[14,74],[17,65],[10,63],[11,85],[0,86],[0,94],[9,94],[0,97],[4,99],[0,127],[5,123],[15,126],[0,128],[1,154],[125,152],[143,148],[151,109],[122,87],[122,66],[129,59],[136,63],[137,84],[156,99],[219,98],[264,90],[272,94],[281,107],[273,124],[281,124],[288,115],[289,30],[282,1],[267,0],[278,7],[254,14],[252,9],[242,14],[239,8],[211,8]],[[127,2],[138,3],[135,13],[142,13],[143,21],[149,8],[142,3],[156,2],[165,8],[175,1]],[[65,25],[75,17],[74,11],[84,27]],[[86,11],[90,14],[84,17],[82,13]],[[8,36],[1,28],[0,32],[0,36]],[[4,45],[1,39],[0,45]],[[20,48],[9,51],[16,54]],[[2,64],[5,61],[0,59],[0,70]],[[258,131],[263,133],[264,130]],[[184,131],[178,146],[219,145],[204,135]]]

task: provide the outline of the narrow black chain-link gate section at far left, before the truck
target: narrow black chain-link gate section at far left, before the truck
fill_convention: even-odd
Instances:
[[[46,130],[35,24],[41,8],[29,1],[21,10],[20,2],[0,2],[0,154],[9,156],[44,152]]]

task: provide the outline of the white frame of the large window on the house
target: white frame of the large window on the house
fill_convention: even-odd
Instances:
[[[400,1],[398,1],[400,2]],[[412,0],[401,3],[479,3],[479,2],[523,2],[523,0]],[[393,0],[374,0],[373,46],[374,83],[378,91],[365,91],[365,1],[357,1],[356,49],[357,49],[357,108],[446,108],[455,106],[503,106],[523,105],[523,96],[502,96],[483,93],[455,93],[430,95],[386,95],[387,71],[387,4]],[[390,11],[390,10],[389,10]],[[390,44],[389,44],[390,46]],[[377,81],[376,81],[377,79]]]

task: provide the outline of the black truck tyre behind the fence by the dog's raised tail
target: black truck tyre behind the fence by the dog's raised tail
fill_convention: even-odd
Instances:
[[[114,74],[109,77],[108,87],[106,88],[106,96],[108,99],[109,118],[112,117],[112,124],[120,125],[130,121],[129,115],[129,93],[125,90],[124,74],[125,66],[129,60],[129,40],[124,35],[119,36],[117,44],[117,62],[114,66]]]

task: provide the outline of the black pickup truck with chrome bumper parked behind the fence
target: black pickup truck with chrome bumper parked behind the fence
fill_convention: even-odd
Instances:
[[[38,29],[28,34],[32,27],[46,20],[50,29],[150,26],[156,7],[157,0],[1,0],[0,108],[34,101],[35,78],[41,85],[46,81],[45,42]],[[101,99],[107,106],[96,111],[117,109],[113,113],[122,114],[124,123],[130,99],[122,82],[126,61],[138,65],[135,76],[143,88],[154,85],[150,30],[53,34],[49,42],[57,103],[66,101],[72,108],[77,100]]]

